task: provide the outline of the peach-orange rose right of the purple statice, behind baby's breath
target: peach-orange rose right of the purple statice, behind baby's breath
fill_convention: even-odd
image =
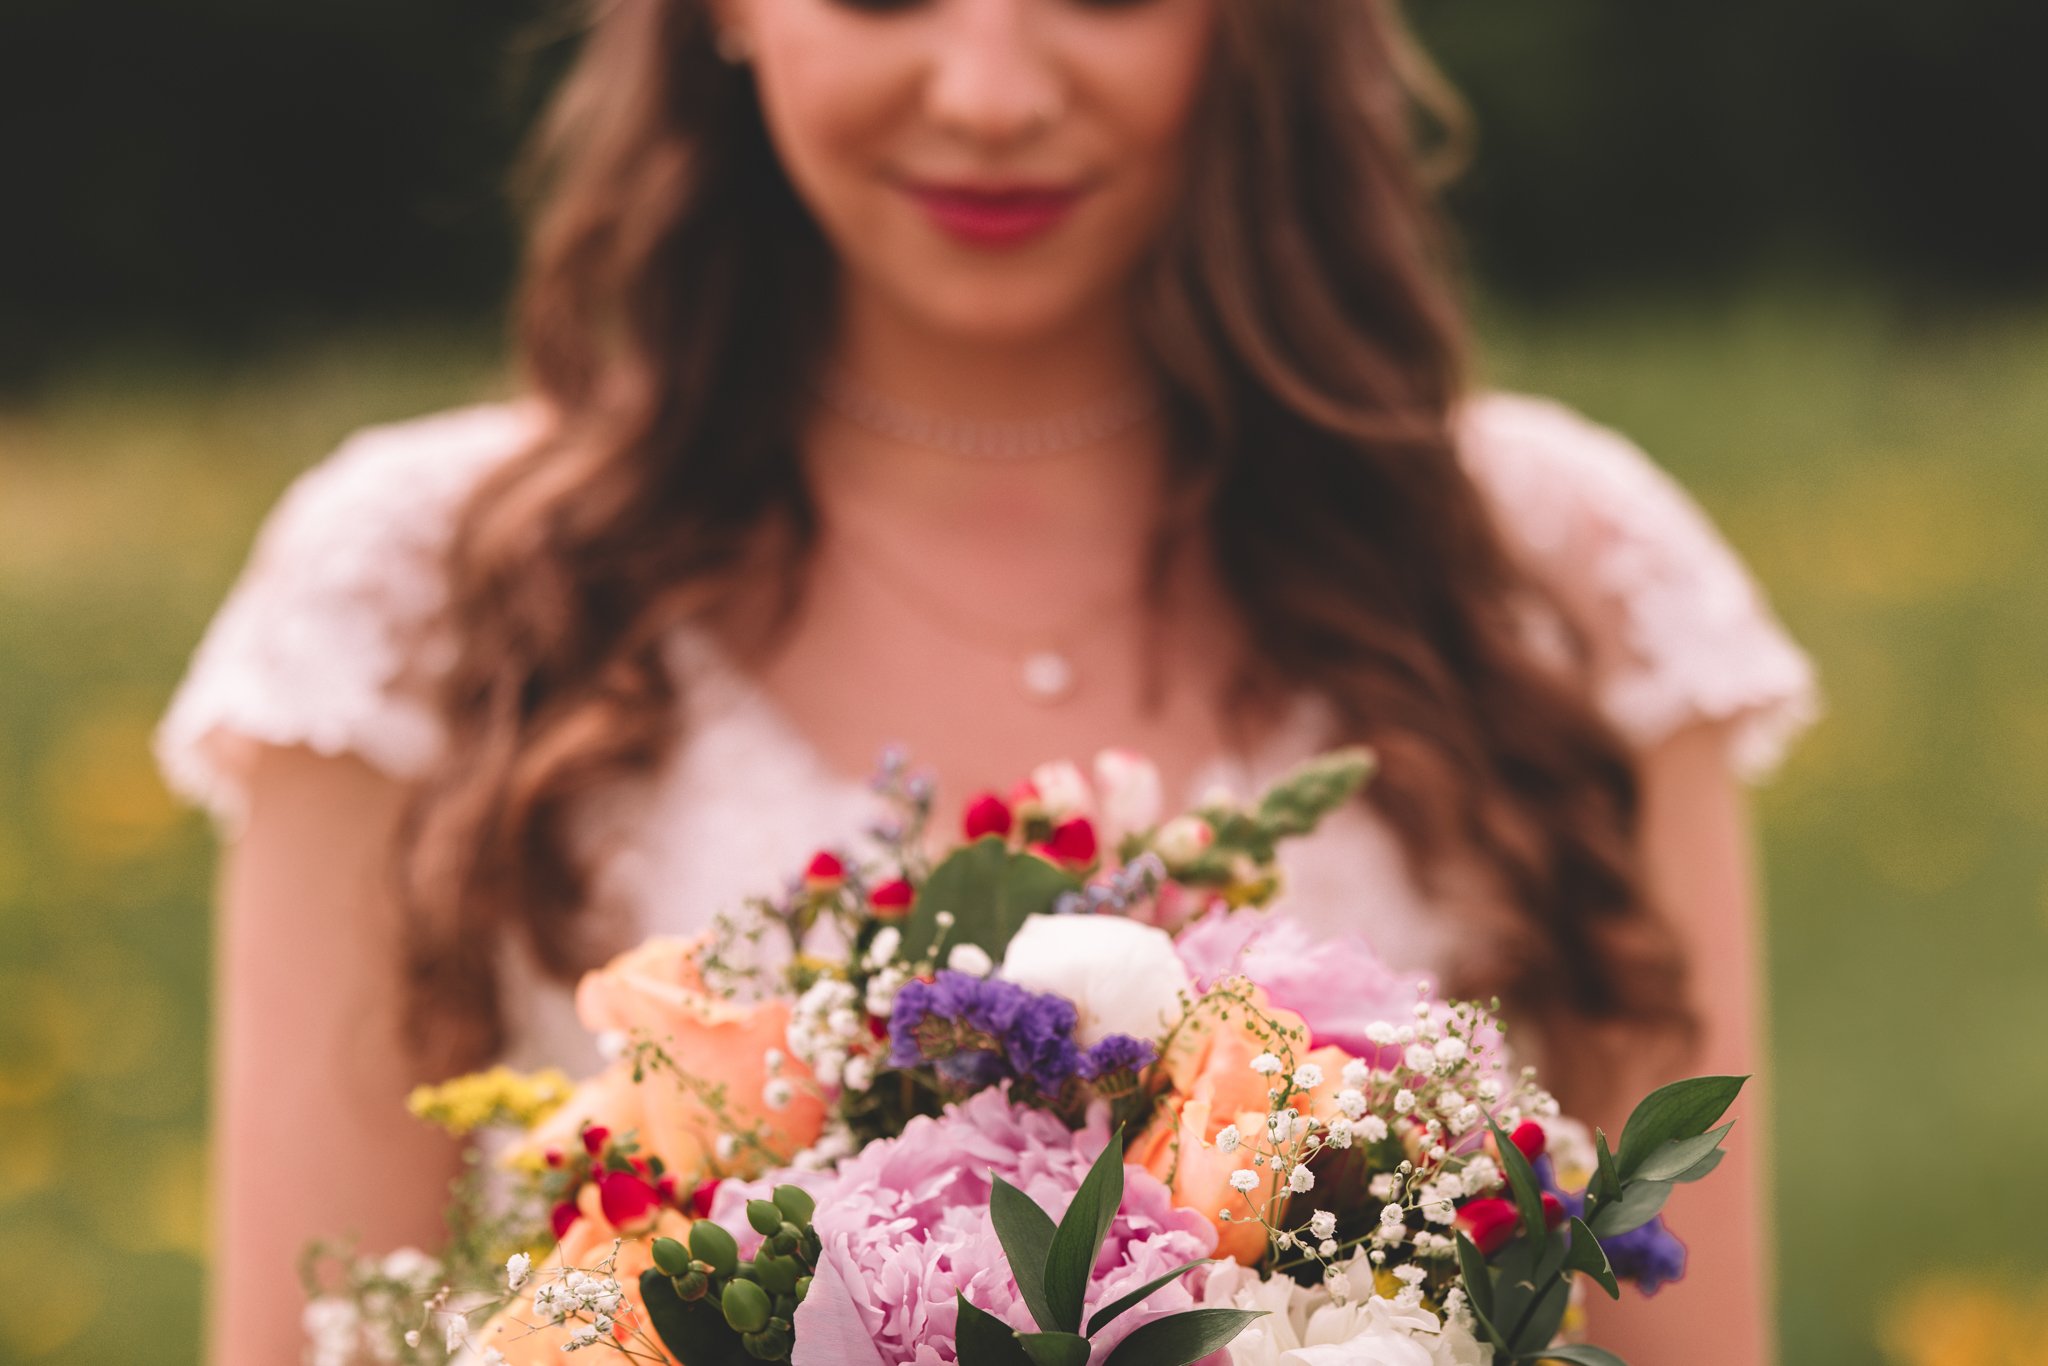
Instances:
[[[1266,993],[1251,987],[1257,1014],[1292,1038],[1307,1042],[1309,1030],[1300,1016],[1266,1004]],[[1247,1143],[1266,1133],[1266,1094],[1272,1077],[1251,1071],[1251,1059],[1272,1049],[1270,1038],[1253,1032],[1251,1012],[1231,1008],[1229,1020],[1202,1012],[1190,1020],[1165,1055],[1171,1092],[1159,1118],[1130,1147],[1130,1161],[1145,1167],[1174,1192],[1174,1204],[1200,1210],[1217,1225],[1217,1253],[1253,1264],[1266,1253],[1266,1231],[1253,1221],[1247,1200],[1264,1200],[1266,1216],[1276,1219],[1286,1192],[1276,1190],[1276,1178],[1262,1169],[1266,1186],[1251,1196],[1231,1190],[1231,1173],[1249,1167],[1243,1149],[1225,1153],[1217,1135],[1235,1124]],[[1341,1049],[1296,1049],[1294,1065],[1317,1063],[1325,1077],[1337,1077],[1350,1061]],[[1325,1081],[1317,1092],[1294,1102],[1303,1112],[1331,1110],[1335,1085]],[[1223,1219],[1231,1210],[1231,1219]]]

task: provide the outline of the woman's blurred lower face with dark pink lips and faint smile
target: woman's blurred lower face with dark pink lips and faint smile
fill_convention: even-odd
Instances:
[[[731,0],[852,305],[963,340],[1102,309],[1174,213],[1217,0]]]

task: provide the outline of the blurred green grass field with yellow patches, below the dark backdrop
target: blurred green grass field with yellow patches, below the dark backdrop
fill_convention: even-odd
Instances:
[[[1487,332],[1700,496],[1827,684],[1759,805],[1786,1362],[2048,1362],[2048,309]],[[197,1360],[211,836],[147,733],[283,483],[485,356],[106,362],[0,408],[0,1362]]]

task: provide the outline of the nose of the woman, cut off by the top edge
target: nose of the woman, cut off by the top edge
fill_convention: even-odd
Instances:
[[[926,104],[934,123],[1006,147],[1059,123],[1067,90],[1038,0],[950,0],[938,25]]]

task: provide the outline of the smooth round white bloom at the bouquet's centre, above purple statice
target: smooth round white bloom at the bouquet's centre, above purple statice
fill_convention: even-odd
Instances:
[[[1032,915],[997,977],[1073,1001],[1083,1047],[1110,1034],[1159,1038],[1180,1022],[1190,987],[1174,938],[1122,915]]]

